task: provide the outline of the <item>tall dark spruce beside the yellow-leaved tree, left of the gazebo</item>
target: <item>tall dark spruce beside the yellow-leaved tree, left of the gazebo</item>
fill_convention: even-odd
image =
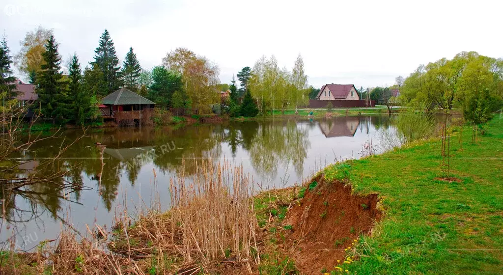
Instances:
[[[40,101],[41,113],[46,118],[52,118],[55,122],[61,115],[61,108],[58,108],[58,101],[62,98],[62,74],[61,57],[58,53],[58,45],[51,35],[45,44],[46,51],[42,53],[45,64],[37,74],[37,94]]]

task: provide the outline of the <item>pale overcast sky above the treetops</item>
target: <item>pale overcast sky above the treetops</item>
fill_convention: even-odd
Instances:
[[[108,29],[121,63],[129,47],[147,69],[185,47],[217,63],[224,83],[262,55],[291,69],[300,53],[315,87],[392,85],[419,64],[461,51],[503,57],[501,0],[0,3],[0,28],[13,55],[26,32],[42,25],[54,30],[64,61],[75,52],[86,65]]]

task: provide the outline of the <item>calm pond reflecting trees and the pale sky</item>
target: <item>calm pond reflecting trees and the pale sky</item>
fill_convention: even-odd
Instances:
[[[44,166],[47,174],[73,167],[65,177],[73,188],[63,188],[63,179],[55,179],[55,184],[2,192],[0,240],[15,235],[17,248],[29,250],[56,238],[63,223],[83,234],[86,225],[92,228],[95,223],[110,229],[114,215],[148,208],[154,193],[167,210],[170,178],[183,166],[190,176],[202,159],[242,165],[257,182],[256,191],[300,184],[336,159],[359,158],[370,141],[379,143],[378,129],[393,127],[388,116],[361,116],[88,130],[61,161]],[[65,131],[57,140],[42,141],[13,159],[30,160],[21,166],[22,173],[30,173],[56,155],[60,143],[82,133]]]

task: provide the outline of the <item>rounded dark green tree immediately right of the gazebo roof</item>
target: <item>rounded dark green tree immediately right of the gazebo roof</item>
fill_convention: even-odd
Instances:
[[[148,98],[155,102],[158,107],[174,107],[170,103],[175,91],[182,91],[182,75],[176,71],[170,71],[163,66],[156,66],[152,69],[152,85],[148,91]],[[177,97],[179,97],[177,95]],[[177,101],[179,98],[177,98]],[[177,102],[177,106],[180,106]],[[180,107],[177,107],[180,108]]]

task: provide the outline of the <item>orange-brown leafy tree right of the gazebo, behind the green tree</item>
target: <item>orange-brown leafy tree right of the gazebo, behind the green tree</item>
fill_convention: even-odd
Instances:
[[[162,59],[164,67],[182,73],[182,81],[190,106],[197,112],[209,112],[210,105],[218,102],[216,85],[220,82],[219,69],[205,56],[177,48]]]

